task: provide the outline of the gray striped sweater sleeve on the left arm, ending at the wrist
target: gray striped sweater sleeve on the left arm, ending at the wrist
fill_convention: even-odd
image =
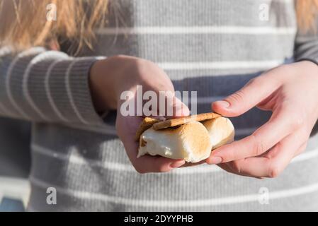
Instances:
[[[33,47],[0,49],[0,116],[64,124],[103,124],[89,90],[98,57],[69,57]]]

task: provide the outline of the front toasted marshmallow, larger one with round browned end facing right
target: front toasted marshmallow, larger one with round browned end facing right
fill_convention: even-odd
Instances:
[[[205,126],[193,121],[176,129],[147,129],[140,136],[138,157],[149,154],[199,162],[210,155],[211,148],[210,136]]]

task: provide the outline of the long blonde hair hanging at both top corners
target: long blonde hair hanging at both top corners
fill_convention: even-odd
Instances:
[[[47,20],[47,5],[57,6],[57,20]],[[315,30],[318,0],[297,0],[301,30]],[[105,23],[108,0],[0,0],[0,45],[16,49],[68,40],[91,47],[93,28]],[[14,12],[14,13],[12,13]]]

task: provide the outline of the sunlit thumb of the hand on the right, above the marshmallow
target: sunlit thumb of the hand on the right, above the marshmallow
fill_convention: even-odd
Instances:
[[[212,110],[225,117],[237,117],[265,100],[278,88],[277,82],[266,78],[266,74],[252,79],[242,89],[225,100],[212,103]]]

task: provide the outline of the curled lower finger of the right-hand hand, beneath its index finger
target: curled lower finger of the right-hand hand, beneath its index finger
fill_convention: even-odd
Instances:
[[[297,133],[280,141],[263,157],[249,157],[244,160],[228,162],[232,173],[248,177],[278,177],[293,159],[296,153],[305,150],[302,139],[297,139]]]

